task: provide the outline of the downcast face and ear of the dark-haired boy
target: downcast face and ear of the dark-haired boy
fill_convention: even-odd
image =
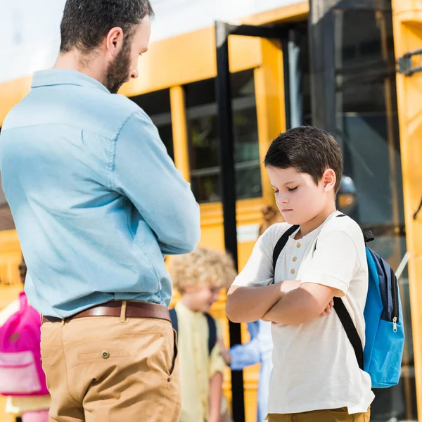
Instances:
[[[277,206],[289,224],[306,224],[333,203],[335,174],[331,169],[324,172],[318,184],[310,174],[300,173],[294,167],[268,167],[267,172]]]

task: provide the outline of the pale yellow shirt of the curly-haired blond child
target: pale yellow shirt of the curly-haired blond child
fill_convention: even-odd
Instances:
[[[226,364],[218,343],[211,354],[208,354],[208,324],[205,315],[202,312],[192,312],[181,302],[175,309],[179,326],[177,345],[181,381],[180,422],[205,422],[208,420],[210,378],[217,372],[224,373]],[[215,322],[217,338],[222,338],[219,321]]]

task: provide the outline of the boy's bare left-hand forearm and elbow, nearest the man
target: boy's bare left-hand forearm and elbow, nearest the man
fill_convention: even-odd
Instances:
[[[281,299],[279,283],[262,287],[231,286],[227,293],[226,314],[233,322],[252,322]]]

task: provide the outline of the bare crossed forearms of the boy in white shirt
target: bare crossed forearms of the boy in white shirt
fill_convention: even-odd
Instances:
[[[335,288],[300,280],[286,280],[270,286],[231,286],[226,314],[234,322],[257,319],[277,324],[298,325],[331,312],[333,296],[343,296]]]

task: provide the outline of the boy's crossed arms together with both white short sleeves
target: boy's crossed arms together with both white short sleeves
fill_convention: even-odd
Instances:
[[[352,229],[360,231],[359,226]],[[262,238],[252,252],[252,264],[248,262],[243,269],[245,280],[241,280],[242,283],[267,284],[271,281],[272,257],[264,253],[265,234]],[[227,295],[227,316],[234,322],[264,319],[276,324],[304,324],[325,314],[333,297],[343,297],[347,293],[359,267],[357,246],[350,234],[330,231],[319,236],[318,248],[310,265],[302,272],[302,281],[286,280],[261,287],[233,285]]]

